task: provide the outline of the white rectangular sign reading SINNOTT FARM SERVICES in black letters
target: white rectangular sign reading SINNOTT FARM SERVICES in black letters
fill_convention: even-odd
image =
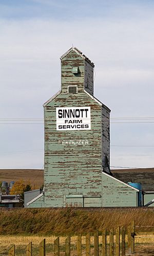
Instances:
[[[56,130],[91,130],[90,107],[56,108]]]

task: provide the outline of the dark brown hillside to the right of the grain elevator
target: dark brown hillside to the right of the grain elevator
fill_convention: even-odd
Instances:
[[[113,177],[124,182],[140,182],[144,191],[154,191],[154,168],[111,170]]]

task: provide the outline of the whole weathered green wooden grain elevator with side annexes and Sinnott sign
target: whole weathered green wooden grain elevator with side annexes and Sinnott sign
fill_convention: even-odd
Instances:
[[[27,207],[138,206],[139,189],[110,172],[110,109],[93,95],[94,64],[61,57],[61,90],[44,104],[44,191]]]

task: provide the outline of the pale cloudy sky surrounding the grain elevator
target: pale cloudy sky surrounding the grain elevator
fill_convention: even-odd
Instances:
[[[152,0],[0,1],[0,168],[43,168],[42,105],[72,44],[111,109],[110,165],[154,167],[153,13]]]

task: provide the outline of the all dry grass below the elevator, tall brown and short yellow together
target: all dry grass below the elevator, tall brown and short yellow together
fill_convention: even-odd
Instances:
[[[26,246],[29,242],[33,244],[33,256],[39,253],[39,244],[46,238],[46,255],[53,255],[53,242],[56,236],[60,238],[61,256],[65,250],[66,235],[71,237],[71,256],[76,253],[76,236],[75,234],[86,234],[95,229],[100,231],[107,228],[109,231],[112,227],[127,227],[131,220],[134,219],[137,226],[154,226],[154,211],[152,209],[104,209],[104,210],[74,210],[74,209],[17,209],[0,211],[0,253],[8,254],[11,245],[15,244],[16,256],[25,255]],[[141,228],[137,228],[142,231]],[[150,231],[150,227],[144,227],[144,231]],[[31,235],[31,234],[33,235]],[[11,234],[11,235],[10,235]],[[101,236],[99,243],[101,244]],[[115,237],[114,237],[115,240]],[[126,237],[127,241],[127,237]],[[83,246],[85,246],[85,237],[83,237]],[[109,248],[109,236],[107,236]],[[140,235],[136,237],[136,243],[140,254],[139,256],[153,256],[153,254],[144,254],[144,251],[152,251],[154,244],[154,235]],[[91,237],[93,244],[93,237]],[[143,250],[139,245],[146,245]],[[101,249],[101,248],[100,248]],[[83,248],[84,253],[85,247]],[[93,256],[93,248],[91,248]]]

